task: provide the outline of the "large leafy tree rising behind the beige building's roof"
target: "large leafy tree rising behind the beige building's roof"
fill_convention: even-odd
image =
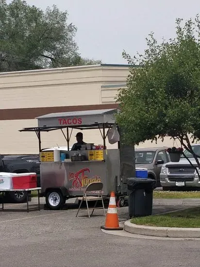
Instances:
[[[0,0],[0,71],[87,65],[67,18],[55,5],[44,12],[23,0]]]

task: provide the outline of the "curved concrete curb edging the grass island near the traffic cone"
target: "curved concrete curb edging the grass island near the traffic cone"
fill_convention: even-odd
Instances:
[[[176,227],[154,227],[147,225],[136,225],[128,220],[124,223],[124,230],[131,234],[141,234],[160,237],[199,238],[200,228],[176,228]]]

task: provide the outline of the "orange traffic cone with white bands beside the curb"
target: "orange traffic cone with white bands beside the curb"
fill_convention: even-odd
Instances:
[[[111,192],[110,196],[108,212],[105,219],[105,226],[101,226],[100,228],[104,230],[123,230],[122,227],[119,227],[115,193],[113,191]]]

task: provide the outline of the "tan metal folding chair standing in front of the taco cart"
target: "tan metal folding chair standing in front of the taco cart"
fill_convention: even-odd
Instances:
[[[95,183],[91,183],[91,184],[87,185],[87,187],[84,191],[84,194],[83,194],[83,198],[78,198],[78,200],[81,200],[81,203],[79,205],[79,209],[78,209],[78,212],[76,214],[76,217],[79,213],[79,210],[81,209],[81,205],[83,204],[83,201],[86,201],[88,217],[90,218],[90,213],[89,213],[90,209],[88,207],[88,201],[95,201],[95,200],[96,200],[96,202],[95,202],[94,208],[91,208],[93,210],[91,216],[93,215],[93,212],[95,209],[102,209],[102,208],[103,208],[103,212],[104,212],[104,216],[105,216],[105,208],[104,208],[103,197],[102,197],[102,189],[103,189],[103,183],[101,183],[101,182],[95,182]],[[99,191],[100,193],[98,196],[88,196],[89,192],[91,192],[91,191]],[[102,207],[100,207],[100,208],[96,208],[98,200],[102,201]]]

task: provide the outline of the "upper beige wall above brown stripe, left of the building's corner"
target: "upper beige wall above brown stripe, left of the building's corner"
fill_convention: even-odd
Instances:
[[[0,73],[0,108],[100,104],[100,67]]]

